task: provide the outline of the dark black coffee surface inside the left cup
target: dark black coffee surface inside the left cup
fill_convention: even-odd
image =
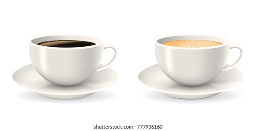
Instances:
[[[38,43],[38,45],[50,46],[50,47],[84,47],[95,45],[95,43],[88,41],[76,41],[76,40],[56,40],[56,41],[44,41]]]

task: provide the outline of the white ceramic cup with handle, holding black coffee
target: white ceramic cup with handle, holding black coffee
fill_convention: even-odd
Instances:
[[[95,43],[84,47],[49,47],[38,43],[55,40],[79,40]],[[102,67],[103,50],[112,48],[115,55]],[[43,36],[29,42],[29,55],[37,72],[52,83],[70,86],[87,80],[95,71],[108,68],[117,56],[114,46],[104,46],[101,38],[95,36]]]

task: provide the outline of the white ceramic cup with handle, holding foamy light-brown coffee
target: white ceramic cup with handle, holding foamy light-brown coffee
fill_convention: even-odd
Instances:
[[[163,45],[175,40],[209,40],[221,43],[212,47],[186,48]],[[240,57],[225,67],[229,50],[238,48]],[[155,56],[161,70],[172,80],[188,86],[207,83],[220,72],[234,68],[242,57],[242,48],[229,45],[226,38],[206,35],[165,36],[155,41]]]

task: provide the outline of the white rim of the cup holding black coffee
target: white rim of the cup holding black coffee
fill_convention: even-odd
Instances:
[[[35,43],[32,42],[33,40],[36,40],[36,39],[40,39],[40,38],[43,38],[43,37],[52,37],[52,36],[90,37],[90,38],[93,38],[93,39],[97,39],[97,40],[99,40],[100,42],[99,42],[99,43],[95,43],[95,45],[90,45],[90,46],[83,46],[83,47],[65,47],[65,48],[64,48],[64,47],[43,46],[43,45],[38,45],[38,44],[35,44]],[[63,40],[64,40],[64,39],[63,39]],[[66,39],[66,40],[71,40],[71,39]],[[74,39],[74,40],[75,40],[75,39]],[[42,41],[42,42],[43,42],[43,41]],[[44,48],[44,49],[54,49],[54,50],[78,50],[78,49],[88,49],[88,48],[94,48],[94,47],[100,46],[100,45],[103,44],[103,40],[102,40],[102,38],[100,38],[100,37],[91,36],[91,35],[67,35],[67,34],[64,34],[64,35],[44,35],[44,36],[33,37],[32,39],[30,39],[29,44],[32,45],[32,46],[36,46],[36,47]]]

